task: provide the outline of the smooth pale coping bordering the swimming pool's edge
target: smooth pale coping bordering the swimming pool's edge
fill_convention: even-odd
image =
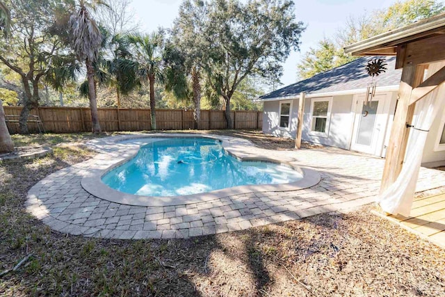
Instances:
[[[139,138],[210,138],[221,142],[223,149],[234,156],[239,161],[266,161],[272,163],[280,163],[285,166],[298,170],[302,174],[302,179],[297,182],[288,184],[265,184],[265,185],[245,185],[235,186],[232,188],[224,188],[208,193],[198,193],[193,195],[181,196],[144,196],[133,195],[117,191],[102,182],[102,177],[113,168],[120,166],[122,163],[133,159],[138,154],[141,145],[138,144],[123,144],[122,141]],[[92,141],[93,142],[93,141]],[[309,188],[318,184],[321,180],[321,175],[310,168],[292,166],[285,160],[278,160],[264,156],[263,154],[249,154],[248,151],[254,149],[256,146],[243,138],[236,138],[231,136],[217,136],[212,134],[131,134],[128,136],[111,136],[107,138],[100,138],[95,140],[94,145],[90,142],[90,146],[95,147],[101,154],[97,156],[98,167],[95,170],[89,170],[81,179],[81,186],[88,193],[95,195],[97,198],[115,202],[118,204],[127,204],[144,207],[166,207],[175,205],[184,205],[199,202],[208,202],[220,198],[225,198],[231,195],[248,194],[253,192],[284,192],[296,191],[303,188]],[[101,144],[113,145],[108,149],[108,152],[100,150]],[[236,147],[236,149],[235,149]],[[113,150],[114,148],[114,150]],[[243,152],[244,149],[244,152]],[[241,150],[241,152],[240,152]],[[259,150],[259,152],[261,152]],[[108,154],[108,156],[107,156]]]

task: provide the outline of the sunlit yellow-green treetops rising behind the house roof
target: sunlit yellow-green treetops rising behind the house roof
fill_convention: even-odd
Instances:
[[[345,26],[337,31],[334,40],[321,40],[303,56],[297,65],[298,78],[307,79],[355,60],[356,57],[344,53],[343,47],[346,45],[407,26],[419,19],[443,13],[444,10],[444,5],[436,0],[405,0],[397,1],[387,10],[350,17]]]

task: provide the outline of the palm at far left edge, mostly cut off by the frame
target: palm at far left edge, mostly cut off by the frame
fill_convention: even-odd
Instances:
[[[0,2],[0,31],[5,37],[9,35],[10,13],[3,2]],[[5,111],[3,102],[0,99],[0,153],[13,152],[14,143],[6,126]]]

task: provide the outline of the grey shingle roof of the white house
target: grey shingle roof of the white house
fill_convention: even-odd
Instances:
[[[386,72],[374,78],[370,77],[365,71],[366,64],[373,58],[386,58],[386,63],[388,64],[386,66]],[[259,98],[267,100],[279,97],[297,96],[300,95],[301,92],[318,94],[355,90],[366,88],[372,80],[377,83],[377,87],[396,86],[401,81],[402,70],[396,70],[395,64],[396,57],[394,56],[365,56],[332,70],[316,74],[314,77],[310,77],[304,81],[298,81],[297,83],[280,88],[279,90],[275,90]]]

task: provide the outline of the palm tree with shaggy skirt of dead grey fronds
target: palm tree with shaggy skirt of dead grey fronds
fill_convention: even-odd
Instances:
[[[90,99],[92,131],[94,133],[101,131],[97,115],[94,63],[97,61],[97,55],[102,45],[102,34],[88,9],[95,10],[100,5],[106,6],[101,0],[77,0],[76,7],[68,22],[70,45],[79,61],[85,61],[86,65],[88,98]]]

